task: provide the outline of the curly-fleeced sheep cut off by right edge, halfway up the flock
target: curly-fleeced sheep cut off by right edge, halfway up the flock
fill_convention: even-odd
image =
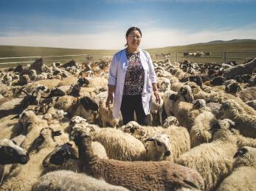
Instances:
[[[256,138],[256,115],[247,115],[233,101],[221,105],[220,116],[234,120],[236,128],[246,137]]]

